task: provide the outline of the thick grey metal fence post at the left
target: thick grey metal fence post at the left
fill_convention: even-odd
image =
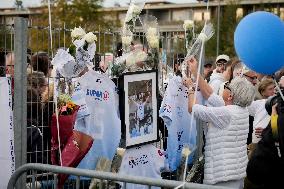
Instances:
[[[16,169],[26,163],[27,153],[27,36],[28,21],[15,18],[14,136]],[[17,185],[24,188],[25,177]]]

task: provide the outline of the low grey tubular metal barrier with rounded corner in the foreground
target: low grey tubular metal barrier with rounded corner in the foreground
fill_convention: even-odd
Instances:
[[[50,172],[54,176],[54,180],[52,180],[52,185],[54,188],[56,188],[56,174],[68,174],[68,175],[75,175],[77,179],[75,180],[75,188],[79,189],[80,187],[80,177],[88,177],[88,178],[96,178],[100,180],[99,188],[103,188],[103,181],[106,181],[107,188],[110,188],[108,183],[109,182],[117,182],[117,183],[133,183],[133,184],[140,184],[148,186],[149,189],[151,187],[163,187],[163,188],[175,188],[177,186],[180,186],[183,184],[179,181],[171,181],[171,180],[162,180],[162,179],[152,179],[152,178],[146,178],[146,177],[136,177],[136,176],[130,176],[130,175],[120,175],[120,174],[114,174],[114,173],[108,173],[108,172],[100,172],[100,171],[91,171],[91,170],[85,170],[85,169],[77,169],[77,168],[69,168],[69,167],[59,167],[54,165],[46,165],[46,164],[37,164],[37,163],[30,163],[25,164],[19,169],[15,171],[15,173],[11,176],[8,188],[7,189],[13,189],[18,178],[28,172],[32,171],[33,174],[32,177],[32,183],[31,188],[36,188],[36,171],[44,171],[44,172]],[[70,188],[70,187],[68,187]],[[73,188],[73,187],[72,187]],[[88,186],[87,186],[88,188]],[[124,187],[126,188],[126,187]],[[181,187],[182,188],[182,187]],[[211,185],[204,185],[204,184],[195,184],[195,183],[186,183],[184,185],[185,189],[228,189],[225,187],[217,187],[217,186],[211,186]]]

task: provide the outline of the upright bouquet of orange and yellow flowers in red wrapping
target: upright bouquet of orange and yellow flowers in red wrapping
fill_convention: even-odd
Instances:
[[[58,97],[58,122],[59,122],[59,137],[61,146],[59,147],[58,130],[56,114],[52,115],[51,119],[51,161],[54,165],[59,165],[58,150],[62,150],[66,145],[68,138],[73,133],[73,127],[76,121],[79,106],[71,101],[71,97],[67,94],[61,94]]]

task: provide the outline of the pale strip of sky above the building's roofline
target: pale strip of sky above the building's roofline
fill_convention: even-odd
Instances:
[[[22,0],[24,7],[34,7],[40,5],[41,0]],[[104,6],[113,6],[115,2],[119,2],[121,6],[125,6],[130,0],[104,0]],[[196,2],[196,0],[168,0],[175,3],[190,3]],[[13,7],[15,0],[0,0],[0,8]]]

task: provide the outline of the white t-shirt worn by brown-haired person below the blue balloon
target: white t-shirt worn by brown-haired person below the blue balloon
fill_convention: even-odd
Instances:
[[[250,115],[254,117],[252,143],[258,143],[261,139],[256,137],[255,129],[259,127],[265,129],[270,121],[270,116],[265,109],[265,103],[266,99],[256,100],[248,107]]]

